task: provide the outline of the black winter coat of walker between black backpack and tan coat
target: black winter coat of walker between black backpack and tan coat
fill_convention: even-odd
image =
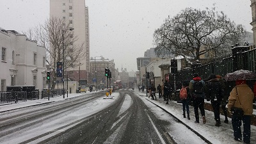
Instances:
[[[218,79],[210,79],[206,84],[206,96],[211,101],[221,102],[224,95],[223,85]]]

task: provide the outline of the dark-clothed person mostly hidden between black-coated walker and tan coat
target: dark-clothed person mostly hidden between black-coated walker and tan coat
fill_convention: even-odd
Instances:
[[[225,83],[224,83],[224,79],[220,76],[220,75],[216,75],[216,78],[218,81],[220,81],[221,83],[221,87],[223,88],[223,97],[221,99],[221,109],[223,111],[223,114],[225,116],[225,120],[224,122],[226,124],[228,124],[228,113],[227,113],[227,104],[228,104],[228,95],[229,95],[229,92],[227,90],[225,90]],[[228,94],[226,94],[228,92]]]

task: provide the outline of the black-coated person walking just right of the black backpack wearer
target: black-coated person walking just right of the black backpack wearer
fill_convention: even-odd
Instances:
[[[220,127],[220,104],[224,95],[223,85],[217,79],[215,74],[209,76],[209,81],[206,84],[207,97],[211,100],[212,109],[214,112],[215,126]]]

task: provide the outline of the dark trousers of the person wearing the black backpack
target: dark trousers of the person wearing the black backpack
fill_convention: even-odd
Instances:
[[[195,118],[196,122],[199,122],[199,113],[198,113],[198,108],[201,111],[201,115],[205,116],[205,111],[204,111],[204,98],[202,97],[196,97],[193,99],[193,106],[194,106],[194,111],[195,111]]]

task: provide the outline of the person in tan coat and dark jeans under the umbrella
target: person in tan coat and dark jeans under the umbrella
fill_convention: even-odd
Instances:
[[[236,80],[236,86],[230,92],[227,105],[230,112],[231,108],[242,108],[244,112],[242,116],[232,115],[232,127],[236,141],[242,140],[241,121],[243,120],[243,141],[244,143],[250,143],[253,98],[252,89],[246,84],[246,80]]]

